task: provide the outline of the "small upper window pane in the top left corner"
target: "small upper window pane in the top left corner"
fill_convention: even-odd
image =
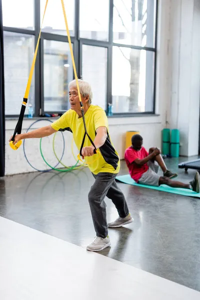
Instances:
[[[33,29],[34,0],[2,0],[3,26]]]

